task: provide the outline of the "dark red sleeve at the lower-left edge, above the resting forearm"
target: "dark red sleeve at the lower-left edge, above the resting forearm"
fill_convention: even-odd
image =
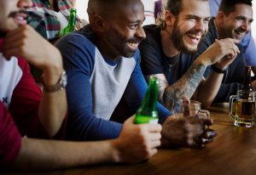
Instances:
[[[9,111],[0,102],[0,166],[15,161],[21,138]]]

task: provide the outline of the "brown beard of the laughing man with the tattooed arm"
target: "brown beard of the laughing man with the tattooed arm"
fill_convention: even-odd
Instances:
[[[196,32],[196,31],[195,31]],[[194,31],[187,31],[186,33],[195,33]],[[175,21],[172,31],[172,43],[177,48],[178,51],[183,52],[184,54],[195,54],[197,52],[198,46],[203,42],[205,34],[201,36],[200,42],[198,42],[197,47],[191,48],[189,47],[185,41],[183,40],[183,37],[186,33],[182,33],[179,28],[177,27],[177,21]]]

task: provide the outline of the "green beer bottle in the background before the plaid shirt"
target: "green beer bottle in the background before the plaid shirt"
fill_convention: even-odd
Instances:
[[[60,37],[67,35],[71,31],[77,31],[77,20],[76,20],[77,10],[76,8],[71,8],[70,16],[68,19],[68,25],[60,32]]]

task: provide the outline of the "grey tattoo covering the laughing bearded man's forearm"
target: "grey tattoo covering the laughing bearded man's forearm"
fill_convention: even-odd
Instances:
[[[183,77],[173,85],[168,86],[162,100],[166,108],[170,109],[169,107],[172,105],[171,100],[183,99],[184,95],[188,96],[190,99],[201,82],[206,68],[206,65],[193,64]]]

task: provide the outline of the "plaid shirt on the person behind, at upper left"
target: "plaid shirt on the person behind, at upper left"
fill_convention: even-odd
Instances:
[[[29,8],[27,23],[38,31],[44,38],[48,40],[55,40],[59,37],[61,31],[61,23],[55,15],[55,11],[50,7],[47,0],[32,0],[33,7]],[[66,19],[68,20],[71,9],[71,4],[68,0],[57,0],[58,8]],[[79,18],[77,18],[80,22]],[[80,24],[77,22],[78,28]]]

